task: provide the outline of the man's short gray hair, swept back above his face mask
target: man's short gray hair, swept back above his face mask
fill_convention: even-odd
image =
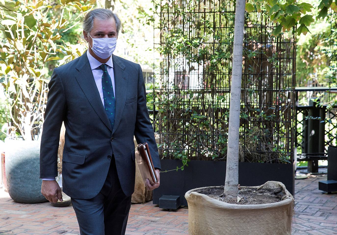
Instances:
[[[114,18],[117,27],[117,35],[119,30],[122,27],[122,23],[118,18],[118,15],[113,13],[112,10],[97,8],[89,11],[83,19],[83,30],[87,33],[90,33],[92,28],[94,27],[94,19],[99,19],[101,21],[105,21],[107,19]]]

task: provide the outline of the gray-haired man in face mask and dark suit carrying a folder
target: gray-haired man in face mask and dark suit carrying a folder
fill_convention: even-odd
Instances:
[[[146,107],[140,65],[113,51],[121,22],[107,9],[94,9],[83,22],[89,49],[54,69],[41,138],[41,193],[62,201],[57,175],[57,151],[62,122],[63,191],[71,202],[81,235],[125,234],[134,191],[137,143],[149,144],[159,179],[160,161]],[[146,187],[153,190],[159,186]]]

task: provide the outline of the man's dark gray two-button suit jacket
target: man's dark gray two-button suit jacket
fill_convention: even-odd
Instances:
[[[134,191],[137,143],[147,142],[154,167],[160,168],[153,127],[146,107],[140,65],[113,55],[116,116],[111,128],[91,72],[87,53],[54,69],[48,84],[48,102],[40,150],[40,178],[57,175],[57,151],[64,121],[63,191],[78,199],[101,190],[114,153],[125,195]]]

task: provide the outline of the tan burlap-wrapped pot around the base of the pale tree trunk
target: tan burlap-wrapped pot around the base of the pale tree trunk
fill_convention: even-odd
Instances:
[[[186,192],[189,235],[290,235],[293,196],[281,182],[268,181],[254,188],[259,187],[282,188],[285,199],[260,205],[236,205],[193,192],[197,189]]]

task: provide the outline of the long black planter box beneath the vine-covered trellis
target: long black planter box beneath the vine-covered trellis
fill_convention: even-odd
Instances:
[[[181,166],[180,160],[160,160],[161,170],[171,170]],[[267,181],[280,181],[294,195],[294,164],[278,163],[239,163],[239,184],[258,186]],[[224,185],[226,162],[190,161],[184,170],[160,173],[160,186],[153,191],[153,204],[159,204],[162,195],[179,196],[180,205],[187,206],[184,197],[188,190]]]

